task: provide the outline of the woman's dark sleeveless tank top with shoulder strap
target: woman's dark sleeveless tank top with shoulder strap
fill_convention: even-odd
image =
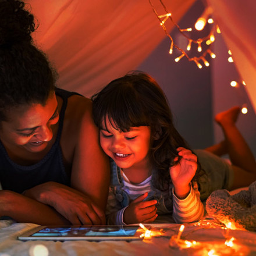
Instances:
[[[77,93],[71,93],[60,88],[56,88],[55,93],[63,99],[59,113],[58,132],[54,145],[41,161],[29,166],[18,165],[9,158],[0,141],[0,182],[3,190],[22,193],[24,190],[50,181],[70,186],[70,177],[65,171],[59,141],[61,140],[67,98]]]

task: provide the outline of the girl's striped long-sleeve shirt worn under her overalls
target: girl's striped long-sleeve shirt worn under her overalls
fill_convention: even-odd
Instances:
[[[138,196],[150,192],[151,190],[151,176],[141,182],[140,184],[132,184],[126,177],[125,173],[121,171],[123,180],[122,190],[129,196],[130,202],[136,199]],[[161,191],[158,190],[158,193]],[[200,192],[198,191],[197,183],[191,183],[190,194],[186,198],[180,200],[173,193],[172,183],[169,184],[169,197],[168,200],[172,201],[172,208],[167,209],[163,205],[158,205],[158,218],[161,215],[172,215],[173,219],[177,223],[189,223],[199,221],[204,216],[204,206],[200,201]],[[166,194],[164,195],[166,197]],[[123,222],[123,214],[126,207],[122,207],[120,200],[116,197],[115,187],[110,186],[108,195],[108,204],[106,207],[106,219],[108,225],[126,225]],[[157,218],[157,219],[158,219]],[[156,220],[157,221],[157,220]]]

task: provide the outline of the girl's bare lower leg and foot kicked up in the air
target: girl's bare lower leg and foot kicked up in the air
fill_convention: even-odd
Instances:
[[[250,173],[256,173],[256,162],[253,153],[236,127],[236,120],[240,113],[240,107],[218,113],[216,122],[222,127],[227,153],[233,165]],[[252,181],[253,182],[253,181]]]

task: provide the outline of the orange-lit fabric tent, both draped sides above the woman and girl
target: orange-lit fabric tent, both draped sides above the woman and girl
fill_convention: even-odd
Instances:
[[[195,0],[166,0],[176,22]],[[135,69],[166,36],[147,0],[27,0],[39,22],[34,33],[59,73],[59,87],[90,97]],[[152,1],[159,14],[161,2]],[[208,0],[256,110],[256,3]],[[160,11],[162,10],[162,13]],[[171,30],[172,27],[168,27]],[[256,112],[256,111],[255,111]]]

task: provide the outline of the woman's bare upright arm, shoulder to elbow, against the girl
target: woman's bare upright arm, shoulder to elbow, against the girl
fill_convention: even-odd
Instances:
[[[91,205],[105,223],[105,209],[108,198],[110,166],[109,159],[99,144],[99,132],[94,124],[91,101],[82,104],[85,109],[81,120],[76,148],[74,149],[71,186],[91,199]],[[90,212],[89,218],[91,216]],[[93,221],[93,220],[92,220]]]

